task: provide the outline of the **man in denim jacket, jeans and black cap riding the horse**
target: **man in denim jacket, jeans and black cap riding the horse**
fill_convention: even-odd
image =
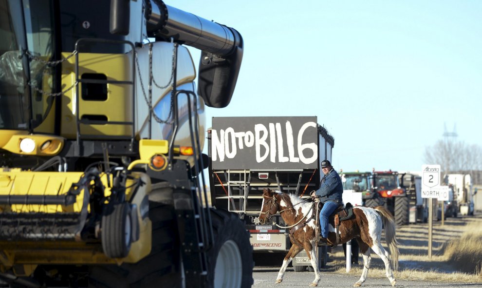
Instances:
[[[320,188],[311,192],[312,198],[319,197],[323,203],[320,211],[320,228],[321,237],[318,245],[328,245],[328,217],[339,207],[343,205],[343,184],[340,175],[333,169],[332,164],[328,160],[321,161],[321,171],[323,178],[321,179]]]

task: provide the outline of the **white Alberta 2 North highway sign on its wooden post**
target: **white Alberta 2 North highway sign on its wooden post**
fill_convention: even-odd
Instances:
[[[428,258],[432,258],[432,199],[439,198],[440,165],[422,165],[422,198],[428,198]]]

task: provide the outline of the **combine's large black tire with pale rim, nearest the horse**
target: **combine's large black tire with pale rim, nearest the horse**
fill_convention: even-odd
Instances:
[[[253,285],[253,247],[238,214],[210,208],[214,243],[207,251],[207,287],[249,288]]]

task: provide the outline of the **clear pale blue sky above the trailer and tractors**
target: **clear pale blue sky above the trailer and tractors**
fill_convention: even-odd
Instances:
[[[231,103],[207,108],[207,127],[213,116],[317,116],[344,171],[420,170],[445,126],[482,145],[482,1],[166,3],[244,39]]]

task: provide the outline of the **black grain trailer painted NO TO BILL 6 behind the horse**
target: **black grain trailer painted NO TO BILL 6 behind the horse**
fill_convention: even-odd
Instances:
[[[315,116],[213,117],[208,130],[211,203],[237,212],[251,234],[255,253],[286,253],[289,229],[279,214],[275,224],[259,225],[264,188],[309,198],[318,189],[319,163],[332,160],[334,138]],[[278,227],[277,225],[280,227]],[[326,264],[326,247],[319,249],[319,265]],[[295,271],[311,263],[304,253],[293,260]]]

